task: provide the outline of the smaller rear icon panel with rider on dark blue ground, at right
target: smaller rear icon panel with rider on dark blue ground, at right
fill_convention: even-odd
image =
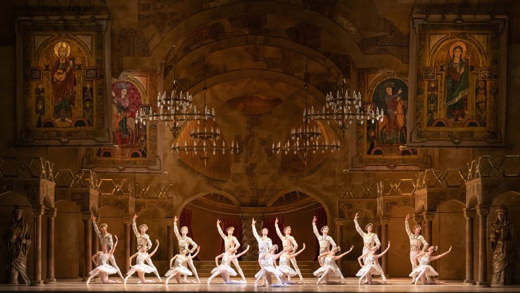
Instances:
[[[407,146],[410,116],[408,79],[396,76],[388,69],[360,69],[358,72],[358,90],[363,97],[363,107],[379,108],[384,116],[382,120],[357,125],[356,155],[352,166],[431,166],[431,157],[426,152]]]

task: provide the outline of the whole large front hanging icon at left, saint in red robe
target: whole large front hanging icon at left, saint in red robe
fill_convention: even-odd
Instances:
[[[104,48],[110,45],[105,40],[107,21],[90,21],[89,26],[79,21],[58,29],[49,20],[18,21],[17,38],[23,43],[18,70],[21,143],[109,141],[102,74]]]

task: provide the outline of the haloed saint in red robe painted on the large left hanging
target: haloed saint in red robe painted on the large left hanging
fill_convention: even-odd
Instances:
[[[53,84],[53,118],[55,121],[68,121],[72,123],[72,107],[76,97],[76,78],[74,62],[70,55],[70,44],[58,42],[54,46],[54,52],[58,59],[51,70],[51,83]]]

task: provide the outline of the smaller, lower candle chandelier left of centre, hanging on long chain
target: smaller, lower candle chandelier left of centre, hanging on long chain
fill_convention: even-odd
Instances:
[[[207,109],[206,106],[206,59],[204,57],[204,109]],[[212,112],[210,114],[212,116],[208,116],[207,118],[212,117],[213,121],[215,121],[215,114]],[[186,154],[192,152],[195,155],[198,155],[202,162],[204,163],[204,167],[207,166],[207,161],[210,159],[210,155],[216,155],[217,153],[222,153],[223,155],[226,152],[230,152],[231,154],[239,153],[239,145],[238,142],[232,141],[231,144],[226,145],[226,140],[220,139],[220,128],[216,126],[210,126],[209,123],[206,124],[206,117],[201,118],[195,121],[190,121],[191,124],[190,129],[190,139],[184,140],[184,143],[172,142],[172,150],[175,150],[177,154],[179,152],[185,152]],[[202,123],[201,123],[202,120]]]

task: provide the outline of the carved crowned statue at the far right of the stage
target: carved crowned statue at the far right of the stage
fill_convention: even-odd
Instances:
[[[493,250],[493,276],[491,285],[503,286],[513,284],[513,225],[508,221],[508,208],[500,205],[496,211],[497,218],[491,224],[489,241]]]

